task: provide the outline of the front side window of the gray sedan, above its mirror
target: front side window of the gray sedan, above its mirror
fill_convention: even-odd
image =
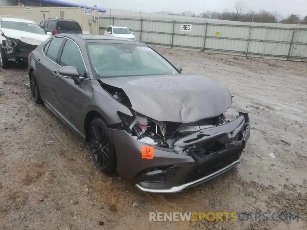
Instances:
[[[60,66],[73,66],[79,71],[80,77],[87,77],[85,66],[78,46],[71,40],[66,40],[60,58]]]

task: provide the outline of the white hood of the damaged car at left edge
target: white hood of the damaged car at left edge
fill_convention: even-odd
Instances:
[[[45,34],[29,33],[16,29],[1,28],[0,30],[2,33],[4,33],[5,37],[18,39],[24,43],[37,46],[50,37],[49,35]]]

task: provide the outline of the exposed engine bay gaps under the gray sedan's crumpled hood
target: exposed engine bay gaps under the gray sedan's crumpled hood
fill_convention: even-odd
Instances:
[[[224,148],[225,143],[219,141],[218,138],[212,141],[206,141],[206,143],[202,144],[189,145],[188,148],[186,146],[180,147],[178,145],[173,145],[173,143],[176,143],[177,140],[182,139],[185,136],[189,136],[199,130],[224,125],[230,122],[225,118],[223,113],[213,118],[203,119],[190,123],[156,121],[150,117],[146,117],[134,111],[132,109],[129,98],[122,89],[104,84],[103,82],[100,82],[100,85],[113,98],[128,107],[131,113],[134,115],[134,117],[131,117],[124,113],[117,112],[122,123],[116,124],[116,126],[112,126],[111,128],[124,129],[134,139],[139,140],[145,144],[150,144],[161,148],[173,149],[183,154],[189,150],[192,150],[196,155],[202,155],[210,152],[218,152]],[[202,135],[206,136],[205,134],[200,134],[196,137],[196,139],[199,140]],[[243,135],[239,134],[237,139],[242,139],[242,137]],[[193,141],[194,140],[188,140],[188,142]]]

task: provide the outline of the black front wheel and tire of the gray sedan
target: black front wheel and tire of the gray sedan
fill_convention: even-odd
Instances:
[[[116,170],[116,155],[112,136],[107,124],[100,118],[94,118],[87,131],[91,157],[96,167],[104,173]]]

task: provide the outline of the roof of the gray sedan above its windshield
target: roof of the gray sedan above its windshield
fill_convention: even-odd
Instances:
[[[122,37],[113,37],[113,36],[104,36],[104,35],[93,35],[93,34],[82,34],[82,33],[66,33],[66,34],[58,34],[56,36],[65,36],[71,39],[80,39],[80,40],[95,40],[95,42],[105,42],[105,43],[130,43],[130,44],[142,44],[146,45],[145,43],[138,41],[138,40],[131,40],[130,38],[122,38]]]

